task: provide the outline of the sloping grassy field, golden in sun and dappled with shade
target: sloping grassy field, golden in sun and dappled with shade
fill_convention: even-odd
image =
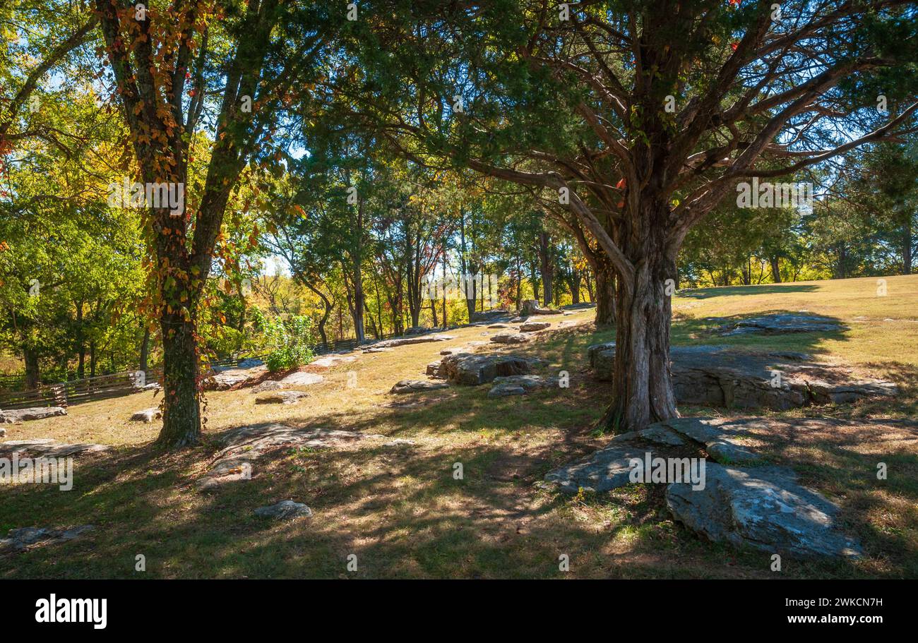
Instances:
[[[794,467],[802,482],[842,506],[845,529],[866,556],[850,561],[785,560],[783,578],[918,577],[918,431],[870,427],[869,418],[918,416],[918,275],[684,291],[674,301],[678,344],[742,343],[801,350],[815,359],[901,384],[901,395],[786,416],[863,420],[838,432],[753,436],[769,460]],[[843,330],[782,338],[712,338],[715,316],[748,317],[806,310]],[[450,331],[455,339],[360,355],[325,373],[290,406],[254,405],[247,391],[207,394],[207,442],[178,453],[149,444],[159,431],[128,421],[155,405],[153,394],[74,406],[66,417],[10,426],[6,439],[56,438],[115,448],[76,460],[73,491],[51,485],[5,485],[0,533],[12,527],[69,527],[95,532],[62,545],[0,558],[0,578],[722,578],[775,577],[769,555],[700,539],[676,524],[659,485],[577,497],[541,489],[554,466],[603,446],[592,428],[610,387],[588,372],[597,332],[591,311],[577,324],[546,331],[520,352],[549,361],[546,373],[570,372],[570,388],[491,400],[487,387],[450,388],[431,403],[393,409],[394,382],[422,378],[443,348],[487,339],[483,327]],[[554,318],[556,322],[558,319]],[[554,325],[556,326],[556,324]],[[484,347],[483,349],[489,349]],[[359,354],[359,353],[358,353]],[[346,386],[356,371],[357,388]],[[403,398],[398,398],[403,399]],[[684,415],[729,416],[727,409],[686,407]],[[341,428],[416,441],[384,447],[366,440],[342,449],[277,449],[259,460],[251,481],[216,493],[193,483],[215,453],[212,438],[231,427],[276,421]],[[889,464],[878,482],[877,461]],[[453,480],[462,462],[465,479]],[[284,499],[314,516],[272,523],[255,507]],[[143,554],[147,571],[134,571]],[[357,571],[346,571],[355,554]],[[570,571],[558,570],[566,554]]]

